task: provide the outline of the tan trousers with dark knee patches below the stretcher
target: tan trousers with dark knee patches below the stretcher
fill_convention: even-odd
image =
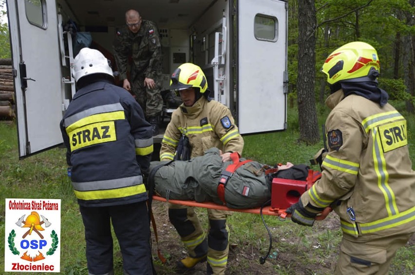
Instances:
[[[169,204],[169,219],[185,244],[189,256],[207,256],[207,274],[224,275],[229,252],[229,211],[207,209],[208,235],[194,211],[194,207]]]

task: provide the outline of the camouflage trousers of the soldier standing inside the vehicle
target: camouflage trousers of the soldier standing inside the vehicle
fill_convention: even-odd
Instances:
[[[154,79],[156,87],[150,89],[144,86],[144,75],[137,75],[131,83],[131,90],[135,95],[135,100],[143,109],[146,119],[158,116],[163,108],[163,98],[161,97],[161,81]]]

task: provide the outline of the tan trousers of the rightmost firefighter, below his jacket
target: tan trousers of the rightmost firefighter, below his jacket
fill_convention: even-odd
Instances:
[[[388,275],[396,250],[404,246],[413,233],[398,234],[357,242],[343,235],[335,275]]]

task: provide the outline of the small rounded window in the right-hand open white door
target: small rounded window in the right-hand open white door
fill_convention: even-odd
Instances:
[[[278,39],[278,20],[276,17],[270,17],[257,14],[254,21],[254,35],[258,40],[275,42]]]

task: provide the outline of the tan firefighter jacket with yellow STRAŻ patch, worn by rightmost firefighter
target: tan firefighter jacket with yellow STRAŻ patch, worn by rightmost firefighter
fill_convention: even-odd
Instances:
[[[332,206],[343,233],[367,241],[415,231],[415,172],[405,118],[389,103],[381,107],[343,91],[327,98],[328,154],[322,176],[301,197],[311,212]]]

